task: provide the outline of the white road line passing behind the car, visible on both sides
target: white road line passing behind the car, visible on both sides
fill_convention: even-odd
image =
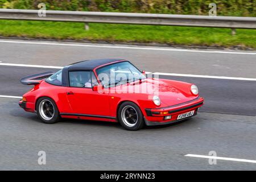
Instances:
[[[30,67],[30,68],[52,68],[62,69],[63,67],[47,66],[47,65],[34,65],[34,64],[13,64],[13,63],[0,63],[0,66],[10,67]],[[166,75],[166,76],[183,76],[183,77],[198,77],[198,78],[216,78],[222,80],[244,80],[244,81],[256,81],[256,78],[243,78],[243,77],[227,77],[227,76],[208,76],[208,75],[189,75],[189,74],[178,74],[178,73],[160,73],[160,72],[146,72],[151,75]]]

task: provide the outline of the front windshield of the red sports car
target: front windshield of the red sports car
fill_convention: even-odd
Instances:
[[[134,65],[125,61],[96,70],[99,80],[105,87],[127,84],[146,78]]]

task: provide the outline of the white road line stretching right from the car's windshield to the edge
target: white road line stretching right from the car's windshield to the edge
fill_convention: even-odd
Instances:
[[[208,76],[208,75],[189,75],[189,74],[178,74],[178,73],[151,73],[152,75],[166,75],[166,76],[184,76],[184,77],[197,77],[197,78],[216,78],[222,80],[246,80],[256,81],[256,78],[243,78],[243,77],[228,77],[228,76]]]

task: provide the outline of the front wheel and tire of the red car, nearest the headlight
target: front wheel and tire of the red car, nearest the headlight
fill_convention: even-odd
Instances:
[[[123,102],[118,109],[118,120],[126,130],[136,131],[144,126],[141,109],[133,102]]]

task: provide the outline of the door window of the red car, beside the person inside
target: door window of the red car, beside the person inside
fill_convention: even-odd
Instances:
[[[92,88],[90,71],[72,71],[69,72],[69,86]]]

